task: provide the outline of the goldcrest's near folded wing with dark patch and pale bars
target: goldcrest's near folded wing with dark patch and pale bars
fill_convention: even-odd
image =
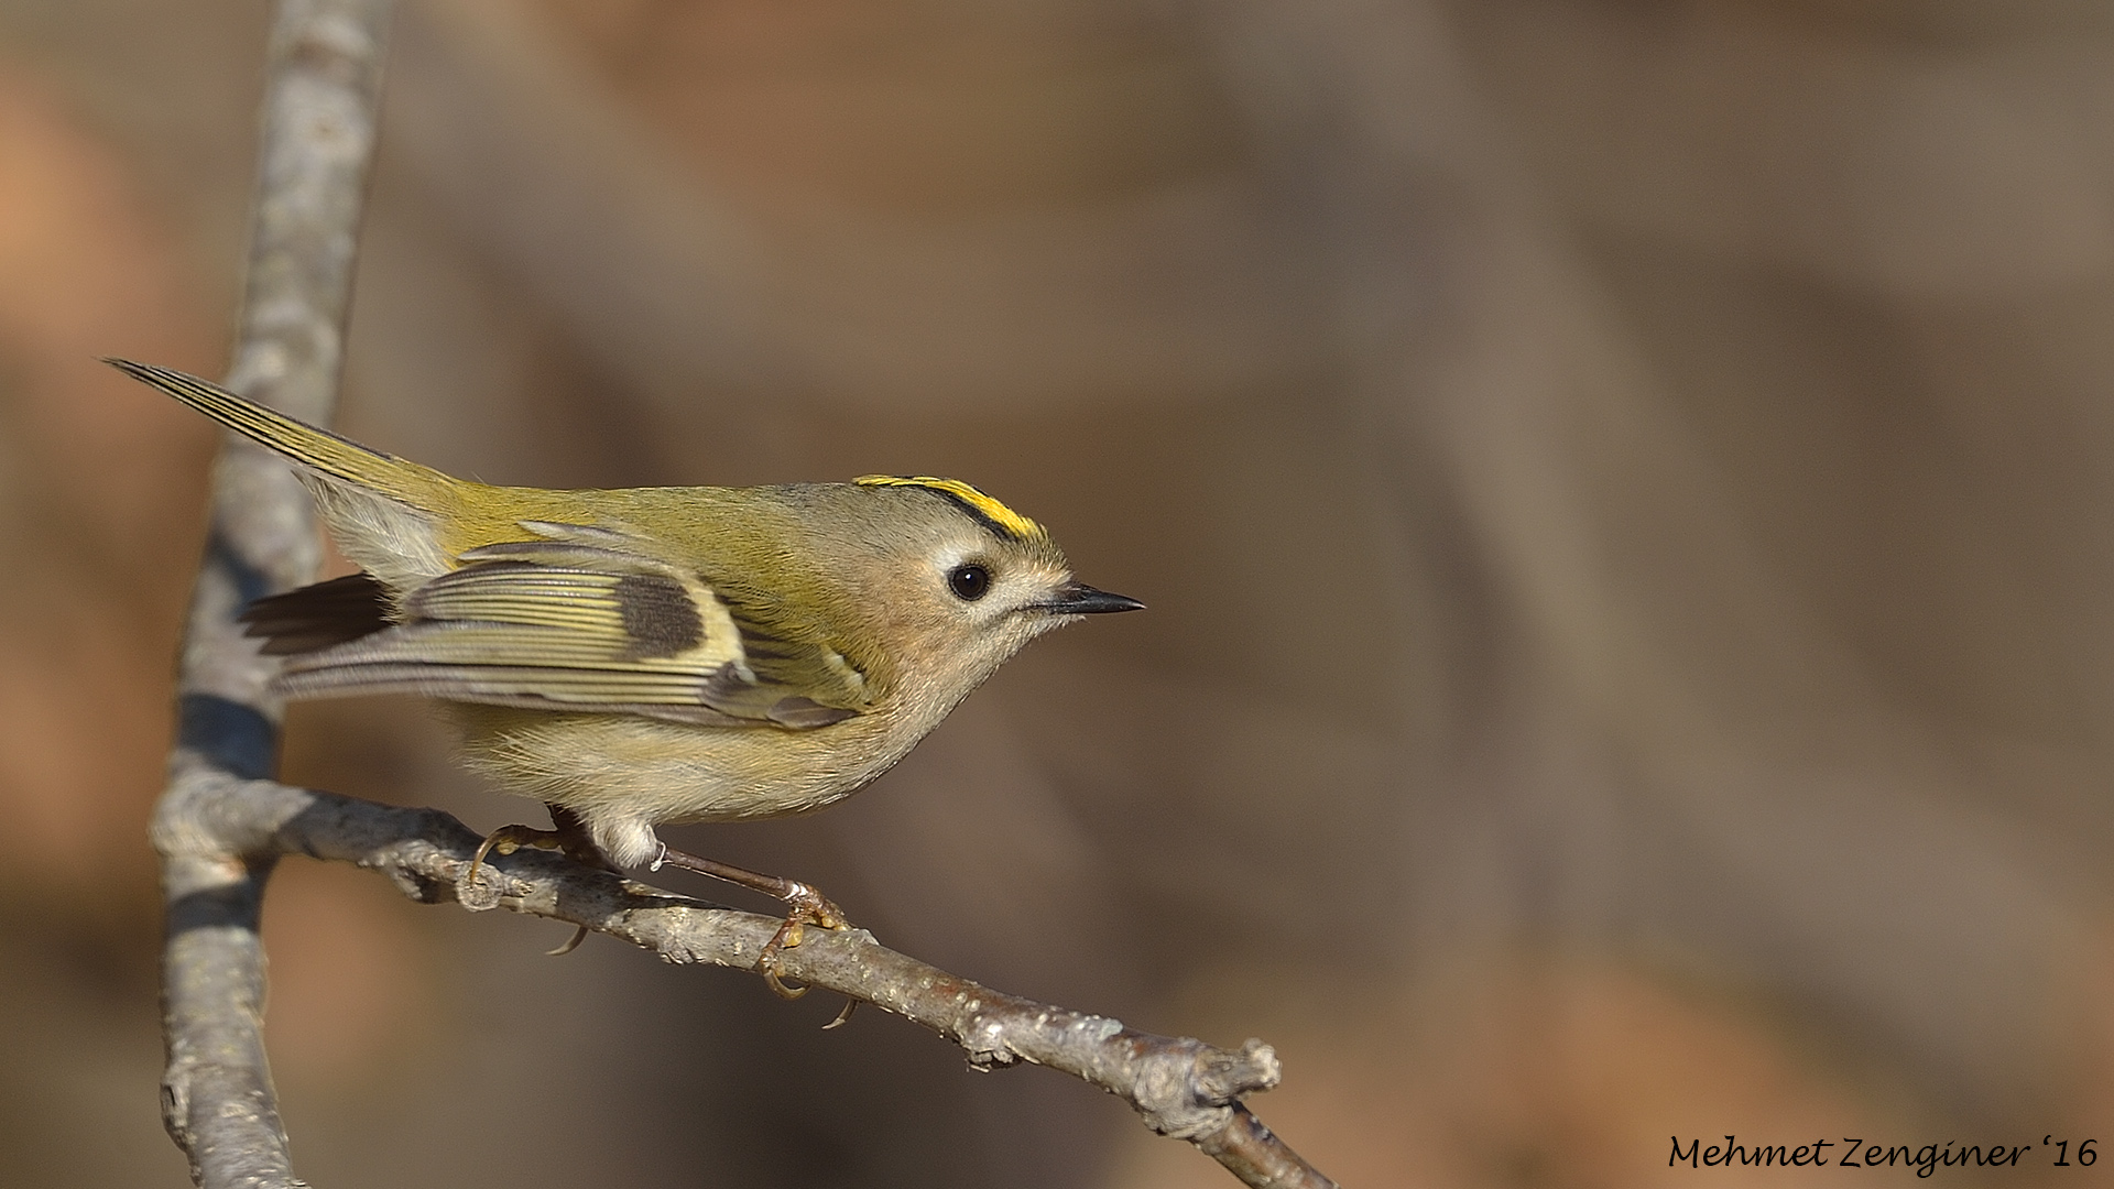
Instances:
[[[292,698],[410,692],[710,726],[814,728],[865,709],[863,681],[789,685],[791,673],[829,673],[820,658],[784,664],[818,645],[780,635],[753,643],[704,578],[651,556],[641,537],[522,527],[541,539],[465,550],[467,565],[404,597],[402,622],[290,658],[275,688]]]

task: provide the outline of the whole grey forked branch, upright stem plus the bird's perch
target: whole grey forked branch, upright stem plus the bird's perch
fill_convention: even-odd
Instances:
[[[228,387],[328,423],[342,360],[359,203],[374,148],[387,0],[281,0],[271,40],[262,165],[241,334]],[[556,855],[490,859],[461,880],[478,836],[406,810],[268,781],[279,705],[273,664],[235,616],[311,582],[309,497],[277,455],[230,440],[178,677],[178,745],[154,808],[163,859],[163,1121],[205,1189],[294,1187],[262,1039],[258,912],[281,855],[385,872],[421,901],[457,899],[583,925],[672,963],[753,969],[776,918],[715,908]],[[865,931],[810,929],[784,950],[795,980],[905,1016],[956,1041],[977,1068],[1046,1064],[1129,1102],[1241,1181],[1332,1183],[1277,1140],[1241,1096],[1277,1085],[1277,1056],[1154,1037],[949,975]]]

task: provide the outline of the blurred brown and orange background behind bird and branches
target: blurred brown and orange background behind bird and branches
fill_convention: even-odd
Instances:
[[[222,366],[264,17],[0,2],[0,1185],[184,1183],[144,823],[214,436],[93,360]],[[340,423],[1051,523],[1152,611],[681,844],[1275,1041],[1258,1113],[1345,1185],[2110,1140],[2108,129],[2084,0],[406,0]],[[535,817],[416,702],[298,707],[288,776]],[[1230,1185],[351,870],[266,931],[321,1185]]]

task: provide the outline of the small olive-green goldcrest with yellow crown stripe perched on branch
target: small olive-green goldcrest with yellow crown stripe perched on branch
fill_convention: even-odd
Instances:
[[[672,853],[655,827],[841,800],[1034,637],[1142,607],[1076,582],[1042,525],[949,478],[490,487],[110,364],[298,463],[361,573],[249,609],[285,656],[273,690],[459,705],[465,760],[558,825],[486,848],[590,840],[622,867],[727,878],[740,870]],[[740,874],[795,906],[772,952],[799,922],[843,925],[805,884]]]

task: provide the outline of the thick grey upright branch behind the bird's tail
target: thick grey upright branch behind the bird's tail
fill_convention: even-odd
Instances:
[[[374,157],[389,0],[281,0],[266,57],[258,188],[228,385],[323,423]],[[298,1185],[264,1060],[258,910],[288,806],[271,774],[279,705],[235,616],[313,580],[309,497],[285,461],[228,440],[178,675],[178,743],[154,808],[163,859],[163,1121],[192,1181]]]

